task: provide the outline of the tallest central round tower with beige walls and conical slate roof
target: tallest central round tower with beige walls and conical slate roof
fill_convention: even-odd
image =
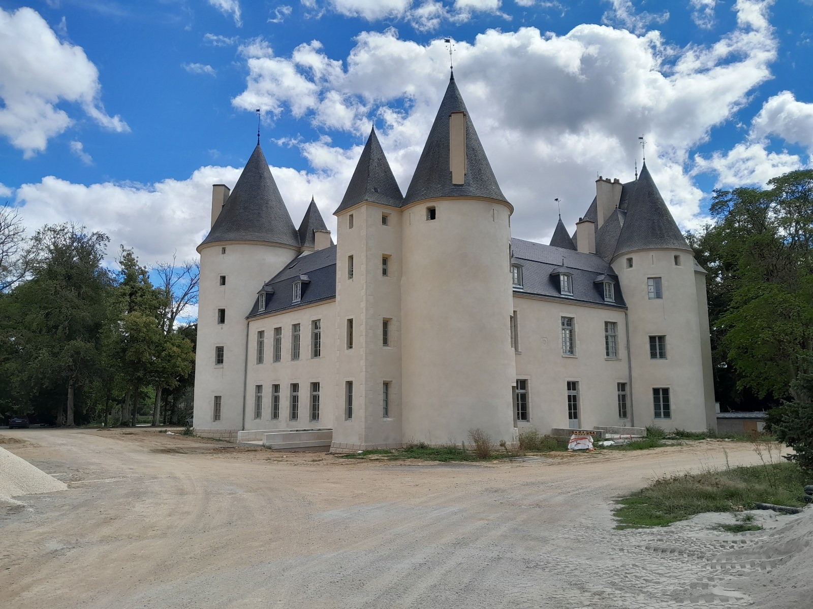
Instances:
[[[515,440],[512,211],[453,75],[402,208],[406,442]]]

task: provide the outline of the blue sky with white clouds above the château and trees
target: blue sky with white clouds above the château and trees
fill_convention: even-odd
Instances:
[[[515,236],[549,239],[556,197],[572,228],[641,134],[684,228],[713,188],[811,166],[811,0],[0,0],[0,201],[193,257],[260,108],[293,221],[314,195],[333,227],[373,121],[406,190],[447,36]]]

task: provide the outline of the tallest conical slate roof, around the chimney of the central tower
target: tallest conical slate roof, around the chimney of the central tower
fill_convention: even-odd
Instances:
[[[449,117],[453,112],[466,115],[466,175],[464,184],[452,184],[449,160]],[[433,197],[489,197],[506,201],[502,194],[489,159],[485,156],[480,138],[474,129],[472,118],[463,103],[463,97],[454,83],[454,74],[449,80],[441,107],[437,110],[435,123],[424,145],[424,152],[415,168],[415,175],[406,189],[403,205],[423,201]]]

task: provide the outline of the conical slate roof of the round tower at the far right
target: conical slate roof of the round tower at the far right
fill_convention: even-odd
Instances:
[[[641,167],[635,191],[627,203],[627,215],[613,257],[637,249],[651,248],[692,251],[680,233],[675,218],[669,213],[669,208],[658,192],[658,187],[655,186],[645,162]]]

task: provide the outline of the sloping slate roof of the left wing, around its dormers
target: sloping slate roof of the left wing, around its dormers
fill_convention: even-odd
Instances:
[[[302,300],[293,302],[293,282],[301,275],[307,275],[308,283],[302,283]],[[314,304],[323,300],[336,298],[336,246],[319,249],[314,253],[294,258],[272,279],[263,285],[267,294],[265,310],[257,310],[257,299],[251,305],[246,317],[255,317],[267,313],[279,313],[286,309],[301,307],[303,304]]]

